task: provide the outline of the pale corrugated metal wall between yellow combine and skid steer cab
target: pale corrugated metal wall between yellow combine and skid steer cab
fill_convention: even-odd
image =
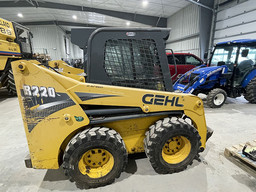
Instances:
[[[70,42],[70,36],[55,25],[27,26],[34,35],[34,52],[44,53],[44,49],[51,55],[51,60],[67,58],[64,37],[69,39],[69,58],[83,58],[83,50]]]

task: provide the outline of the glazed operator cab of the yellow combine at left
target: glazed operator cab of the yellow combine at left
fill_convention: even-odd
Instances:
[[[24,27],[18,23],[12,22],[16,39],[15,43],[20,45],[20,52],[22,59],[32,59],[33,47],[32,38],[33,34],[30,32],[29,28]]]

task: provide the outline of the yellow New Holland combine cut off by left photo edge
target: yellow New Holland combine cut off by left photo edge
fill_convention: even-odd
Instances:
[[[12,95],[17,92],[11,62],[32,59],[32,37],[28,28],[0,18],[0,88],[6,87]]]

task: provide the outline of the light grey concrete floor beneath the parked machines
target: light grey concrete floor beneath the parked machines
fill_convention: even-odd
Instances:
[[[58,170],[35,170],[25,167],[28,145],[17,97],[0,90],[0,191],[48,192],[81,191]],[[204,95],[199,95],[204,98]],[[200,153],[202,162],[194,160],[188,169],[174,174],[159,175],[144,153],[129,156],[128,165],[114,184],[89,189],[99,191],[254,191],[256,170],[234,157],[226,158],[225,147],[256,139],[256,105],[243,97],[228,98],[219,109],[205,106],[207,125],[214,130]],[[205,164],[206,162],[206,164]]]

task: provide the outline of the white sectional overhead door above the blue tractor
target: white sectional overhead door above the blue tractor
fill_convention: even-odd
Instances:
[[[215,0],[215,4],[222,1]],[[236,2],[237,3],[237,2]],[[254,39],[256,36],[256,3],[248,0],[240,4],[219,7],[214,34],[214,43],[235,39]]]

